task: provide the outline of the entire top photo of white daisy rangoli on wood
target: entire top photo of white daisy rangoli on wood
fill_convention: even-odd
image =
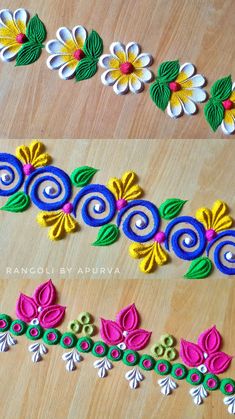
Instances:
[[[234,20],[234,0],[1,0],[0,137],[233,139]]]

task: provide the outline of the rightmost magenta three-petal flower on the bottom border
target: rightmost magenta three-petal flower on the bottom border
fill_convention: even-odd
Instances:
[[[219,351],[221,344],[222,337],[213,326],[199,336],[197,344],[181,339],[180,356],[189,367],[197,367],[203,373],[220,374],[228,369],[232,360],[232,356]]]

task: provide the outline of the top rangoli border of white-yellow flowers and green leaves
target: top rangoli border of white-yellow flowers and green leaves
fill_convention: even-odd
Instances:
[[[14,12],[0,10],[0,58],[16,59],[16,66],[34,63],[41,55],[46,40],[44,23],[35,15],[29,20],[27,10]],[[101,82],[112,86],[114,93],[141,93],[150,84],[150,97],[162,111],[176,119],[198,112],[198,103],[206,102],[204,115],[211,129],[221,126],[226,135],[235,133],[235,83],[231,75],[220,78],[211,87],[211,96],[204,90],[206,78],[197,74],[192,63],[180,64],[178,60],[164,61],[155,77],[149,67],[153,57],[141,52],[137,42],[112,42],[110,53],[103,54],[103,40],[92,30],[88,33],[82,25],[72,29],[58,28],[56,39],[46,44],[47,67],[58,70],[61,79],[75,78],[77,82],[90,79],[98,65],[105,69]]]

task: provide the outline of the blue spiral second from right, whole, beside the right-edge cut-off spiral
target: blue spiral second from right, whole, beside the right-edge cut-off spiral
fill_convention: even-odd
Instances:
[[[173,232],[171,236],[171,232],[175,226],[180,223],[189,224],[191,228],[182,228]],[[196,230],[192,230],[192,227]],[[173,221],[171,221],[165,231],[166,234],[166,242],[165,247],[169,251],[170,250],[170,241],[171,246],[176,254],[180,259],[184,260],[193,260],[197,257],[201,256],[206,248],[206,238],[205,238],[205,229],[203,225],[197,221],[193,217],[177,217]],[[171,237],[170,237],[171,236]],[[187,236],[189,242],[187,243],[183,239],[184,236]],[[196,248],[195,248],[196,246]],[[193,249],[191,250],[190,249]]]

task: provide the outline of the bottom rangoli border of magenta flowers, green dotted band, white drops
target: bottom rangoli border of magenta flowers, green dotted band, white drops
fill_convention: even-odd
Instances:
[[[125,379],[133,390],[140,387],[148,371],[153,371],[161,376],[158,385],[163,395],[172,394],[180,380],[185,379],[192,386],[189,394],[196,405],[202,404],[210,392],[219,390],[225,396],[229,413],[235,414],[235,381],[219,377],[228,370],[232,357],[221,351],[222,337],[216,326],[201,333],[197,344],[181,339],[181,362],[172,362],[176,357],[163,357],[165,350],[176,345],[172,335],[161,336],[155,349],[152,348],[153,356],[139,352],[148,346],[151,332],[139,328],[140,315],[135,304],[123,308],[115,321],[101,318],[100,340],[95,341],[89,335],[78,336],[83,333],[82,325],[91,323],[87,312],[80,313],[73,325],[70,323],[69,332],[56,329],[64,319],[65,307],[55,301],[56,289],[51,280],[39,285],[33,297],[20,294],[15,310],[17,318],[0,314],[0,352],[7,352],[18,343],[17,337],[25,335],[33,341],[28,350],[34,363],[44,359],[48,347],[60,345],[65,350],[62,360],[68,372],[75,371],[88,353],[97,358],[93,366],[99,378],[107,377],[114,364],[122,361],[128,367]]]

